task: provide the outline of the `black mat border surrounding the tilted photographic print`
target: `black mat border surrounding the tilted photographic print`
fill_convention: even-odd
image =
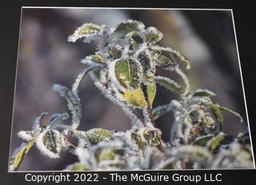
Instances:
[[[245,86],[246,103],[250,120],[250,131],[254,148],[256,148],[256,106],[255,73],[256,73],[256,29],[255,6],[242,1],[243,6],[234,6],[234,1],[218,3],[217,1],[22,1],[0,0],[0,185],[32,184],[26,183],[26,173],[7,173],[10,147],[10,130],[14,98],[15,69],[18,53],[18,33],[22,6],[84,6],[84,7],[152,7],[152,8],[203,8],[233,9],[235,29],[238,38],[238,49],[242,65],[242,76]],[[140,173],[145,173],[141,171]],[[182,171],[181,174],[222,173],[223,182],[219,184],[253,184],[254,170],[230,171]],[[105,172],[106,173],[106,172]],[[125,172],[123,172],[125,173]],[[127,173],[127,172],[126,172]],[[162,172],[168,173],[168,171]],[[174,173],[174,172],[172,172]],[[38,173],[39,174],[39,173]],[[107,173],[106,173],[107,174]],[[106,184],[109,180],[102,183]],[[67,184],[67,183],[65,183]],[[74,184],[74,183],[70,183]],[[78,184],[78,183],[77,183]],[[85,183],[82,183],[85,184]],[[207,184],[207,183],[205,183]],[[210,183],[209,183],[210,184]]]

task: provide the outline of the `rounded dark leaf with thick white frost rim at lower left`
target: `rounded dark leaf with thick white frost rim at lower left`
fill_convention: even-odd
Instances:
[[[36,146],[39,151],[50,158],[59,158],[62,152],[64,138],[57,130],[42,132],[36,139]]]

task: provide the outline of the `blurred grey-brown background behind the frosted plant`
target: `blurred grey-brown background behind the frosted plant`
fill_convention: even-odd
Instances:
[[[190,59],[192,68],[185,73],[192,89],[214,91],[218,94],[213,98],[215,102],[239,112],[244,118],[241,124],[234,116],[225,114],[224,132],[235,135],[245,131],[246,109],[230,11],[25,8],[22,9],[11,152],[22,142],[17,132],[30,130],[41,112],[51,115],[67,111],[65,101],[52,91],[52,86],[57,83],[70,87],[84,69],[80,61],[95,51],[94,43],[85,44],[82,40],[69,43],[67,37],[86,22],[117,26],[126,19],[160,30],[164,37],[159,45],[178,49]],[[158,74],[172,77],[168,71],[158,71]],[[80,130],[130,128],[130,120],[121,108],[106,100],[89,77],[82,82],[79,96],[82,101]],[[174,98],[158,86],[154,106]],[[156,121],[163,140],[170,139],[173,120],[170,112]],[[60,159],[49,159],[33,148],[19,170],[62,170],[76,160],[70,152],[65,152]]]

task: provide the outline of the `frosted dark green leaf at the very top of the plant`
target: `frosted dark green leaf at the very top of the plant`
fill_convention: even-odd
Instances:
[[[114,30],[114,33],[118,33],[120,37],[123,37],[130,32],[141,32],[142,30],[144,30],[144,28],[145,26],[142,22],[129,19],[120,23]]]

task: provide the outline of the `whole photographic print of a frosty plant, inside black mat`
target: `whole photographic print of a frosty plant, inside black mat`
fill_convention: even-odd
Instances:
[[[234,21],[23,7],[9,171],[254,168]]]

